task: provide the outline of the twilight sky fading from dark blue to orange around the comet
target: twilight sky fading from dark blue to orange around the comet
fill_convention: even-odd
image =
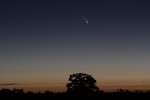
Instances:
[[[150,1],[0,1],[0,88],[65,90],[77,72],[150,89]]]

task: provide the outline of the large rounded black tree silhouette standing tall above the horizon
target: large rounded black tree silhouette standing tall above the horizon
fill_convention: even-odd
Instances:
[[[96,86],[96,80],[86,73],[76,73],[69,77],[69,83],[66,85],[67,92],[73,94],[91,94],[99,92]]]

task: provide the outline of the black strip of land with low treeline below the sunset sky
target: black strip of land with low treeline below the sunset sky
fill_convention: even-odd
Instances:
[[[117,91],[113,93],[92,93],[92,94],[70,94],[70,93],[24,93],[23,90],[0,91],[0,100],[150,100],[150,92],[142,91]]]

